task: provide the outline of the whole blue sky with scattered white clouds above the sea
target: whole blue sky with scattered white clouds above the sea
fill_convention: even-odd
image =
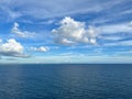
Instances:
[[[132,63],[132,0],[0,0],[0,63]]]

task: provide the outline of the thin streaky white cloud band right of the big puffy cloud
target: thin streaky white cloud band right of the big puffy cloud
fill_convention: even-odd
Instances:
[[[132,22],[100,25],[96,29],[98,31],[99,40],[102,40],[103,43],[106,43],[106,41],[111,41],[111,43],[109,42],[105,45],[130,45],[129,40],[132,35]],[[127,44],[124,44],[124,42]]]

